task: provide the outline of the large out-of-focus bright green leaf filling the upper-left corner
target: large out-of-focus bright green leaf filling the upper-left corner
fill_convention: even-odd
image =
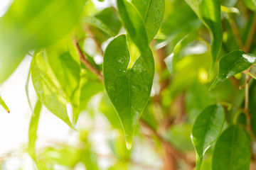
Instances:
[[[78,22],[85,0],[19,0],[0,18],[0,82],[28,50],[59,40]]]

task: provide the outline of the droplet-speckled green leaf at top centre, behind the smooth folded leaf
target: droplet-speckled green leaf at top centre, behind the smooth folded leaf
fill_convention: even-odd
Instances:
[[[165,1],[164,0],[132,0],[142,15],[144,26],[146,28],[149,43],[159,31],[161,22],[164,18]]]

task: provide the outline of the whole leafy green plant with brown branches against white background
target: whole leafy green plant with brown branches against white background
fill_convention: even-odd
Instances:
[[[141,120],[139,127],[152,132],[157,149],[178,152],[166,169],[191,168],[195,160],[182,154],[194,154],[192,143],[196,169],[250,169],[256,139],[255,11],[255,0],[117,0],[102,11],[87,0],[14,1],[0,18],[0,83],[33,53],[26,92],[31,77],[38,101],[33,109],[28,98],[28,153],[38,169],[78,162],[98,169],[86,137],[79,149],[35,152],[42,106],[75,130],[96,94],[95,107],[124,130],[127,149],[134,134],[144,136],[136,130]],[[9,112],[1,97],[0,104]],[[123,162],[129,159],[129,152],[121,149],[120,156],[111,146]],[[52,152],[75,156],[55,160]]]

